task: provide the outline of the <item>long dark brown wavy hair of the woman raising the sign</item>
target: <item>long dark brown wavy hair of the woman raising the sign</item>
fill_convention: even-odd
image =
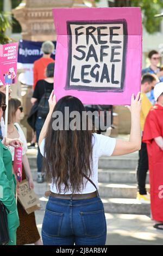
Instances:
[[[83,103],[73,96],[62,97],[54,107],[53,114],[60,111],[65,115],[65,107],[69,112],[80,114],[82,127],[82,113],[85,111]],[[61,192],[61,184],[65,185],[64,192],[71,190],[80,192],[84,188],[83,175],[90,177],[92,164],[92,131],[86,130],[54,130],[53,122],[49,122],[45,139],[44,167],[47,178],[52,178],[57,190]],[[68,127],[72,118],[68,117]],[[65,125],[65,120],[64,120]],[[65,126],[64,126],[65,127]],[[87,126],[86,126],[87,127]]]

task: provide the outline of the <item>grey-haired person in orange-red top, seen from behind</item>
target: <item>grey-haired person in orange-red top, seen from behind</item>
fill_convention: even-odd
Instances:
[[[33,90],[38,80],[43,80],[46,78],[45,70],[47,65],[51,62],[54,62],[54,59],[51,58],[51,54],[54,51],[54,44],[51,41],[43,42],[41,46],[43,56],[40,59],[35,60],[33,67]]]

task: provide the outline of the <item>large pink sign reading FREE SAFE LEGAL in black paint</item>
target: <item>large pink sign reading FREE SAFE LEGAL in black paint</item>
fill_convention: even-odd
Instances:
[[[58,8],[53,16],[57,100],[72,95],[84,104],[130,104],[141,81],[140,8]]]

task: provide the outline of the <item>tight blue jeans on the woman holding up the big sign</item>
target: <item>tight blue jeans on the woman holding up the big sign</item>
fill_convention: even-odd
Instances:
[[[42,224],[43,245],[105,245],[102,200],[49,197]]]

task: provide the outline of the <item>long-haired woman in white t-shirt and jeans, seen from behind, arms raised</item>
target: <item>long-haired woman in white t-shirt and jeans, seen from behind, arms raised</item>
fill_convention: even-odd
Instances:
[[[98,194],[98,159],[140,149],[139,98],[140,93],[135,99],[134,95],[131,97],[130,139],[123,141],[92,133],[88,125],[83,129],[83,103],[76,97],[65,96],[55,104],[52,92],[49,114],[39,138],[45,170],[52,179],[51,191],[46,192],[49,200],[42,224],[44,245],[105,245],[106,220]],[[79,119],[74,121],[65,116],[65,107],[71,117],[76,111]],[[76,129],[72,129],[72,124]]]

